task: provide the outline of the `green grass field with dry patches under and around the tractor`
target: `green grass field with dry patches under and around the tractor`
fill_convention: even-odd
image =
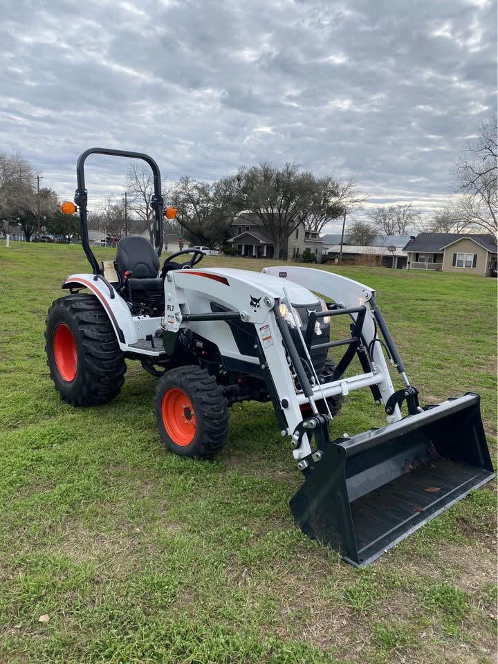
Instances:
[[[163,448],[156,381],[136,363],[109,405],[59,400],[46,310],[88,271],[77,246],[0,244],[2,664],[496,661],[495,483],[347,566],[293,524],[301,478],[270,405],[234,406],[227,447],[203,463]],[[496,280],[338,271],[378,291],[423,403],[481,394],[495,459]],[[360,391],[331,435],[381,423]]]

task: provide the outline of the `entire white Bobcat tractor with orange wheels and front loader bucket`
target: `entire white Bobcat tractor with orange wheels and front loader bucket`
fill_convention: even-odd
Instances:
[[[84,184],[84,162],[94,153],[150,165],[155,249],[145,238],[124,237],[116,260],[98,263]],[[46,321],[50,376],[68,403],[107,403],[122,387],[126,361],[138,360],[158,378],[156,418],[167,448],[210,459],[226,443],[230,405],[270,401],[304,476],[290,502],[297,525],[356,566],[494,477],[479,395],[421,406],[373,289],[312,268],[198,268],[199,250],[176,252],[161,266],[160,174],[145,154],[84,152],[75,203],[92,273],[66,278],[70,295],[53,303]],[[344,338],[331,338],[331,320],[347,322]],[[394,389],[386,357],[402,389]],[[360,374],[351,373],[355,358]],[[387,424],[331,440],[344,398],[364,388]]]

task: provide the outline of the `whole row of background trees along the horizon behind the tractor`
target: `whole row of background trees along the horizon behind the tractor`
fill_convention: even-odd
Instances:
[[[377,234],[410,232],[481,232],[497,237],[497,118],[483,122],[477,136],[463,147],[452,169],[454,193],[443,210],[431,218],[412,203],[367,209],[365,219],[347,226],[349,243],[369,245]],[[57,194],[35,186],[33,167],[19,153],[0,152],[0,221],[3,232],[21,225],[30,239],[43,220],[46,232],[71,235],[77,219],[59,212]],[[39,182],[38,182],[39,184]],[[142,163],[132,163],[124,182],[123,196],[109,196],[100,210],[89,215],[89,226],[112,237],[124,232],[149,232],[154,241],[152,174]],[[163,192],[174,205],[177,219],[165,219],[165,232],[191,243],[223,246],[240,222],[257,223],[273,243],[275,256],[286,239],[304,223],[306,230],[322,232],[333,221],[343,223],[353,210],[365,207],[368,197],[354,178],[317,177],[297,163],[277,167],[268,162],[240,167],[236,173],[214,182],[181,177]]]

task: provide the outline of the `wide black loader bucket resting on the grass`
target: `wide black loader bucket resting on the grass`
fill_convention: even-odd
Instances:
[[[331,441],[291,499],[301,530],[357,567],[495,477],[478,394]]]

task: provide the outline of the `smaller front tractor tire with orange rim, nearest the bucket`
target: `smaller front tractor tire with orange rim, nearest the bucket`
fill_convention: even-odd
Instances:
[[[180,457],[212,459],[227,440],[227,403],[205,369],[192,365],[167,371],[156,388],[161,439]]]

